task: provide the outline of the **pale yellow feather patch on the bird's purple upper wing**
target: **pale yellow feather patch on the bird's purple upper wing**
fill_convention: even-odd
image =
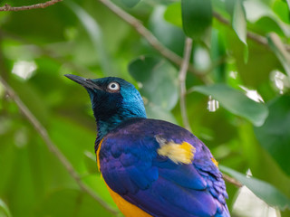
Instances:
[[[160,136],[156,136],[156,141],[160,144],[160,148],[157,150],[160,156],[169,157],[175,164],[189,165],[192,163],[196,148],[188,142],[177,144]]]

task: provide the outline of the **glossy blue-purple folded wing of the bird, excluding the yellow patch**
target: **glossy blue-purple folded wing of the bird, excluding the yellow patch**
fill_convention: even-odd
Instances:
[[[164,144],[182,140],[162,135]],[[190,140],[191,139],[191,140]],[[208,148],[190,138],[189,164],[160,152],[160,136],[105,137],[100,153],[102,175],[111,189],[152,216],[229,216],[225,184]]]

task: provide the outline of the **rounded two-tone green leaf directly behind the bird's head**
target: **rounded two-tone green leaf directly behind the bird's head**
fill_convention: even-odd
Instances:
[[[164,59],[141,56],[129,65],[131,76],[141,83],[140,93],[150,103],[171,110],[179,99],[178,71]]]

